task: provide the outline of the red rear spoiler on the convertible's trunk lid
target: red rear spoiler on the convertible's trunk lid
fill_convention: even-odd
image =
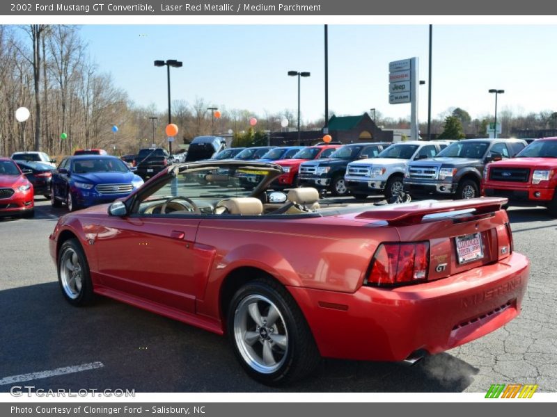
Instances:
[[[454,202],[437,202],[434,200],[401,204],[370,210],[356,216],[359,219],[384,220],[392,226],[403,226],[407,224],[420,223],[426,215],[450,212],[462,213],[462,211],[472,210],[474,215],[493,213],[501,210],[503,204],[507,204],[508,199],[498,197],[481,197],[466,199]],[[455,213],[455,215],[457,214]]]

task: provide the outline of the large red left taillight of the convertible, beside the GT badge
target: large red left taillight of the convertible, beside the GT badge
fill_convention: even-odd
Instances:
[[[427,279],[430,243],[382,243],[371,261],[366,284],[392,286]]]

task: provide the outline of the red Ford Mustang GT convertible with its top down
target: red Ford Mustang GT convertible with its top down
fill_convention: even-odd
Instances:
[[[214,172],[228,172],[226,186],[210,184]],[[49,238],[63,295],[227,334],[265,384],[308,375],[321,357],[415,361],[519,314],[529,266],[506,199],[320,206],[315,188],[267,190],[282,172],[178,164],[121,201],[64,215]],[[262,178],[255,189],[240,186],[246,174]]]

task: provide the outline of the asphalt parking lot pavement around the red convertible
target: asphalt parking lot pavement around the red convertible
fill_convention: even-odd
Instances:
[[[0,391],[7,377],[86,363],[90,370],[30,379],[36,389],[137,392],[276,391],[247,377],[226,338],[99,298],[70,306],[47,238],[65,208],[36,200],[36,218],[0,219]],[[510,208],[515,250],[531,260],[521,316],[477,341],[415,366],[324,360],[313,377],[281,391],[485,392],[491,384],[557,391],[557,219]]]

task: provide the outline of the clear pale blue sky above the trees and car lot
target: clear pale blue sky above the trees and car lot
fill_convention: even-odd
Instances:
[[[377,108],[407,117],[409,104],[389,104],[389,61],[417,56],[427,81],[428,25],[329,25],[329,110],[338,115]],[[315,25],[86,25],[81,35],[100,70],[139,105],[166,110],[166,67],[156,59],[182,60],[171,69],[172,99],[202,97],[221,109],[297,109],[301,79],[303,120],[324,113],[324,26]],[[434,25],[432,117],[451,106],[472,117],[499,110],[557,111],[557,26]],[[420,87],[419,119],[427,120],[427,84]]]

